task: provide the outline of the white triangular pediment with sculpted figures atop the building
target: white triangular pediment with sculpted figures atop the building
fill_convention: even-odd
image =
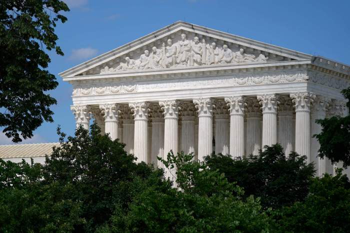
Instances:
[[[186,22],[175,22],[82,64],[62,77],[305,60],[312,56]]]

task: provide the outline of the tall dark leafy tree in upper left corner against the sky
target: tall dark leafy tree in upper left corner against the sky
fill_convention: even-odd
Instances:
[[[68,11],[61,0],[1,0],[0,3],[0,126],[12,141],[30,138],[41,123],[52,122],[49,106],[56,100],[46,93],[57,86],[47,68],[45,49],[56,45],[56,22]]]

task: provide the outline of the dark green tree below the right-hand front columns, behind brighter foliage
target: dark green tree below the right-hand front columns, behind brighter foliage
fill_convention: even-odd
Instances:
[[[205,162],[223,173],[229,182],[244,189],[244,196],[260,197],[264,208],[279,208],[303,200],[314,174],[313,164],[305,156],[284,155],[279,144],[265,146],[259,155],[233,159],[230,155],[211,155]]]

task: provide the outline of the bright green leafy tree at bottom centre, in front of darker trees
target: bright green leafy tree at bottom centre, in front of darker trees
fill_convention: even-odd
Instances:
[[[216,170],[171,152],[163,160],[177,167],[176,189],[144,189],[127,213],[114,212],[98,232],[267,232],[270,220],[257,199],[241,199],[242,190]]]

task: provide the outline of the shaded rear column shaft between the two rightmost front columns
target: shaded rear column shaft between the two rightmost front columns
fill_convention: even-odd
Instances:
[[[278,142],[284,149],[285,156],[293,150],[293,112],[279,111],[278,112]]]

